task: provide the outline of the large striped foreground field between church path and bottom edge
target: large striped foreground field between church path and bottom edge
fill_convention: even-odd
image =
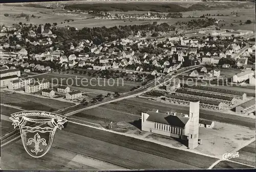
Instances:
[[[66,128],[57,131],[53,147],[42,158],[31,158],[20,141],[2,147],[2,169],[70,169],[74,154],[129,169],[201,169],[216,161],[183,150],[68,123]],[[77,164],[71,169],[92,169],[88,166]]]

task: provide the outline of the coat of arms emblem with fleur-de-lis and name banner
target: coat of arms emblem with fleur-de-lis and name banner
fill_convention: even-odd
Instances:
[[[67,117],[42,111],[23,111],[11,115],[14,128],[19,127],[26,152],[40,158],[46,155],[52,146],[57,128],[61,130]]]

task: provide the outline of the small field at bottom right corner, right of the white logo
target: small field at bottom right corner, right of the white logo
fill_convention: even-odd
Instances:
[[[232,161],[255,166],[255,141],[238,150],[239,157],[233,158]]]

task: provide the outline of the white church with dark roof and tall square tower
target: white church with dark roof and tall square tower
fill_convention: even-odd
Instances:
[[[188,141],[194,149],[199,137],[199,101],[190,101],[189,116],[178,113],[159,113],[158,110],[141,114],[141,130]]]

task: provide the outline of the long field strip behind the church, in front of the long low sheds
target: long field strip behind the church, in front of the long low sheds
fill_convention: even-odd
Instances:
[[[146,100],[142,98],[124,99],[118,102],[113,102],[107,105],[103,105],[101,107],[117,110],[120,112],[131,113],[139,116],[141,115],[141,112],[146,112],[152,109],[158,109],[161,112],[179,112],[179,113],[185,113],[185,114],[189,112],[189,107],[187,106],[165,104],[165,103]],[[251,120],[251,118],[224,114],[221,112],[213,112],[213,111],[200,109],[200,118],[229,123],[229,124],[246,126],[249,128],[255,128],[255,121]]]

